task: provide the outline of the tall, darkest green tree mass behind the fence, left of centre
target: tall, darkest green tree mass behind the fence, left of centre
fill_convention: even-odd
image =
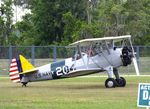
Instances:
[[[63,16],[70,12],[73,19],[86,20],[85,3],[84,0],[37,0],[32,9],[33,22],[38,33],[36,36],[38,40],[35,43],[38,45],[60,43],[66,39],[65,37],[72,36],[73,33],[68,32],[67,35],[65,32],[66,26],[69,25],[64,22]]]

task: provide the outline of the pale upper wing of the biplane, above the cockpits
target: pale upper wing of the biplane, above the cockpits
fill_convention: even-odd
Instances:
[[[87,46],[89,45],[91,42],[100,42],[100,41],[107,41],[107,40],[114,40],[114,42],[120,41],[122,39],[126,39],[126,38],[130,38],[131,35],[125,35],[125,36],[115,36],[115,37],[104,37],[104,38],[90,38],[90,39],[83,39],[77,42],[74,42],[72,44],[70,44],[69,46]]]

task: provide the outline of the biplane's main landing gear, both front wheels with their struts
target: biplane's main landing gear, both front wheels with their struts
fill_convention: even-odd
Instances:
[[[112,68],[111,66],[107,69],[108,79],[105,81],[106,88],[115,88],[115,87],[125,87],[126,80],[123,77],[119,76],[118,69]],[[113,74],[115,78],[113,78]]]

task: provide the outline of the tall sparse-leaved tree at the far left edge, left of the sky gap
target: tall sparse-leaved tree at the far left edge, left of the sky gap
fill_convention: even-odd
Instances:
[[[12,24],[12,0],[4,0],[0,7],[0,45],[9,44],[9,37],[11,35]]]

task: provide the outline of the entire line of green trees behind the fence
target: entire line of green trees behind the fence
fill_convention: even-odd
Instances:
[[[132,35],[150,45],[150,0],[1,0],[0,45],[67,45]],[[31,10],[13,23],[12,6]]]

